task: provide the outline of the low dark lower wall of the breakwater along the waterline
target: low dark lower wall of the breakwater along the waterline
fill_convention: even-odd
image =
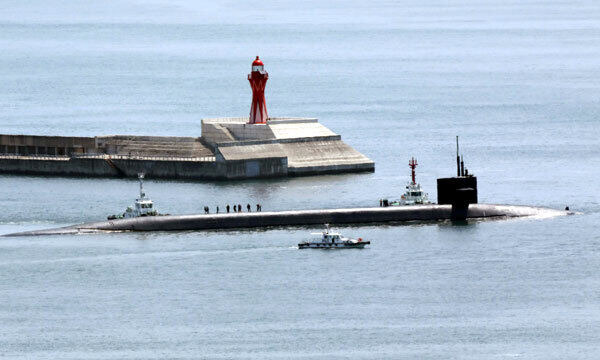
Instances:
[[[183,158],[127,155],[0,155],[0,174],[58,175],[90,177],[235,180],[282,176],[372,172],[371,164],[288,166],[288,158],[272,156],[255,159]]]

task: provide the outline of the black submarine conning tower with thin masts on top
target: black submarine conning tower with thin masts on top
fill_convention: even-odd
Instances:
[[[438,204],[452,205],[452,217],[465,219],[469,204],[477,204],[477,177],[469,174],[456,137],[456,177],[437,179]]]

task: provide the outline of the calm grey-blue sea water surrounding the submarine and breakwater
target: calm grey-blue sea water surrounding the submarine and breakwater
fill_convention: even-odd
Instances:
[[[106,3],[106,4],[105,4]],[[344,227],[363,251],[299,251],[314,228],[0,240],[0,357],[594,359],[600,351],[600,4],[592,0],[16,1],[0,12],[0,133],[200,134],[249,111],[314,116],[373,174],[149,179],[169,213],[375,205],[417,157],[480,200],[581,214]],[[0,234],[104,218],[134,180],[0,176]]]

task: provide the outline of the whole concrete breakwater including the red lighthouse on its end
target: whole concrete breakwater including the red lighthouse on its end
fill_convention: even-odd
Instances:
[[[248,179],[375,170],[315,118],[268,117],[267,79],[257,56],[249,117],[203,119],[198,137],[0,135],[0,173]]]

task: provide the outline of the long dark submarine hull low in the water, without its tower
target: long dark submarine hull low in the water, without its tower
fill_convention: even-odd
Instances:
[[[568,212],[566,211],[531,206],[471,204],[467,212],[467,218],[552,217],[567,214]],[[168,215],[108,220],[5,236],[59,235],[95,231],[177,231],[322,225],[325,223],[361,224],[436,221],[448,220],[451,218],[451,215],[451,205],[436,204],[379,208]]]

